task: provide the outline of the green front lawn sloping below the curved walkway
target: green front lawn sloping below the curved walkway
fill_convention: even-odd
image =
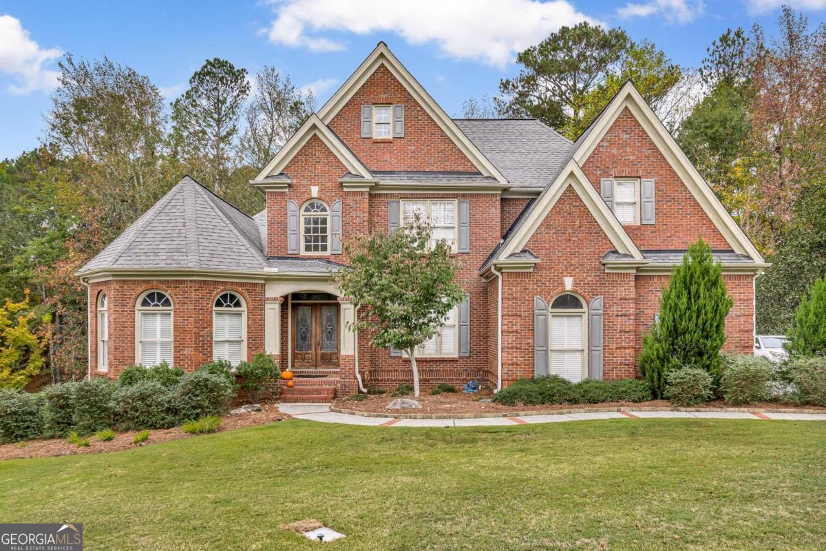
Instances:
[[[402,429],[288,420],[0,462],[4,522],[86,549],[824,549],[826,423],[608,420]],[[326,549],[326,548],[325,548]]]

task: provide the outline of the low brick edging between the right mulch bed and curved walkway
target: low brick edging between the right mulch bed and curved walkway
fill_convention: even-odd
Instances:
[[[715,413],[803,413],[826,414],[826,410],[811,410],[793,407],[571,407],[564,410],[536,410],[536,411],[491,411],[489,413],[455,413],[453,415],[425,414],[425,413],[374,413],[373,411],[355,411],[330,405],[330,411],[343,413],[348,416],[382,417],[393,419],[486,419],[490,417],[526,417],[526,416],[554,416],[571,415],[577,413],[608,413],[610,411],[687,411],[690,413],[708,411]]]

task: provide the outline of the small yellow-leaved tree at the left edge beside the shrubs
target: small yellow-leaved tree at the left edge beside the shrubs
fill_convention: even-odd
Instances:
[[[22,302],[0,305],[0,387],[22,388],[43,368],[44,342],[33,328],[29,291]]]

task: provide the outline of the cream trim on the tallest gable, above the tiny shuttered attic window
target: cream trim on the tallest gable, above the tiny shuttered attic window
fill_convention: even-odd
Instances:
[[[502,184],[507,183],[507,178],[496,169],[496,166],[482,154],[482,151],[480,151],[476,145],[473,145],[471,140],[468,140],[468,136],[459,130],[459,127],[456,126],[453,119],[444,112],[442,107],[439,107],[439,104],[435,102],[433,97],[430,97],[430,94],[427,93],[425,88],[416,81],[410,71],[401,64],[401,61],[396,59],[396,56],[392,54],[384,42],[378,43],[376,48],[367,56],[367,59],[364,59],[362,64],[358,65],[358,69],[341,85],[336,93],[333,94],[333,97],[327,100],[324,107],[321,107],[318,112],[321,121],[323,121],[325,125],[330,124],[333,117],[349,102],[350,98],[358,92],[358,88],[361,88],[363,83],[365,83],[367,79],[370,78],[370,75],[382,64],[398,79],[401,85],[406,88],[407,92],[419,102],[420,106],[425,109],[425,112],[430,115],[430,118],[453,140],[453,143],[468,157],[468,160],[470,160],[479,172],[486,176],[496,178],[496,180]]]

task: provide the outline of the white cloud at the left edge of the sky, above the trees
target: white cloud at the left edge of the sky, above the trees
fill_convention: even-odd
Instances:
[[[17,81],[8,85],[9,92],[26,94],[57,88],[59,73],[44,66],[61,55],[63,52],[57,48],[40,48],[17,18],[0,16],[0,73],[11,75]]]

